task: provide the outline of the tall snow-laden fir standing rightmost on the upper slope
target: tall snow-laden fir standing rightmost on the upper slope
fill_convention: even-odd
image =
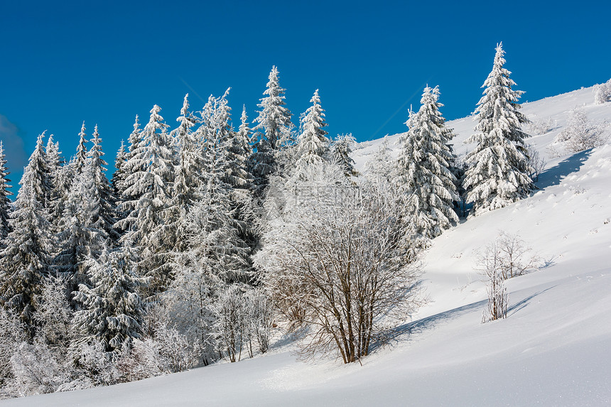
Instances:
[[[528,134],[521,124],[528,122],[519,112],[521,91],[509,79],[503,67],[504,50],[497,45],[492,72],[482,87],[484,96],[477,103],[477,126],[467,143],[476,143],[467,154],[467,171],[463,179],[466,201],[472,202],[473,215],[499,209],[527,197],[534,189],[529,174],[533,172],[524,139]]]

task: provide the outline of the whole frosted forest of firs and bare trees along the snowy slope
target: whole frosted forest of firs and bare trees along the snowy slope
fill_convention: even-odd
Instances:
[[[497,47],[464,161],[424,89],[399,158],[363,174],[331,140],[318,89],[295,126],[273,67],[249,123],[229,89],[170,126],[136,116],[112,179],[97,126],[69,160],[40,134],[16,200],[0,144],[0,396],[83,389],[266,352],[355,362],[419,303],[418,254],[464,215],[534,185],[521,92]]]

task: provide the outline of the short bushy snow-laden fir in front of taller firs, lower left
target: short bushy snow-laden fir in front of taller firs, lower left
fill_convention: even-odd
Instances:
[[[137,294],[141,279],[134,273],[135,261],[129,242],[118,249],[106,247],[98,259],[87,260],[91,284],[80,284],[75,293],[82,309],[72,320],[79,337],[71,347],[102,342],[105,352],[117,354],[140,337],[145,310]]]

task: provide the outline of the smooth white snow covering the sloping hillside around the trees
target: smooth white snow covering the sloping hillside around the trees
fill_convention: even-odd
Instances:
[[[529,118],[555,127],[529,142],[547,156],[575,106],[611,121],[611,102],[593,101],[586,88],[524,104]],[[456,151],[474,125],[450,122]],[[379,143],[355,151],[359,167]],[[610,406],[611,144],[549,159],[538,185],[528,199],[435,239],[423,266],[429,303],[362,366],[301,362],[294,344],[277,344],[239,363],[0,405]],[[519,234],[546,266],[507,281],[508,318],[482,324],[487,295],[475,252],[500,231]]]

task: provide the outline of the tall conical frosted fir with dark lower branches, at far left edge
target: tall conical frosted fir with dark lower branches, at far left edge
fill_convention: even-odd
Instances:
[[[44,134],[44,133],[43,133]],[[21,177],[21,188],[11,213],[11,231],[0,257],[0,301],[12,309],[26,325],[30,337],[35,327],[32,315],[41,282],[48,274],[53,241],[47,197],[50,195],[49,170],[43,149],[43,134]]]

